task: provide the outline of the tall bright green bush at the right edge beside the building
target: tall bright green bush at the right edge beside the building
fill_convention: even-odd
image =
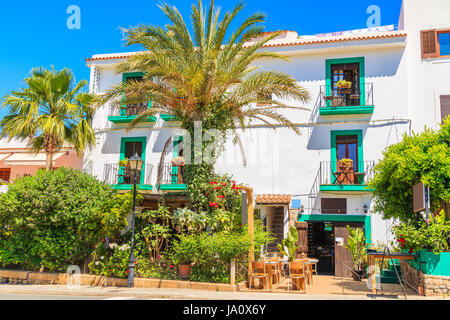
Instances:
[[[414,223],[412,190],[418,182],[430,187],[433,210],[439,209],[441,199],[450,201],[450,118],[439,131],[405,135],[383,152],[369,182],[374,210],[386,219]]]

